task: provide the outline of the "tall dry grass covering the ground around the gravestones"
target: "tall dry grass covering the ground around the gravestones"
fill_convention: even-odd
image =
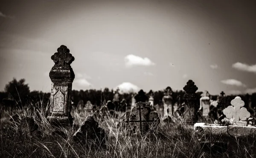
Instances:
[[[10,121],[11,116],[33,117],[42,132],[40,137],[35,135],[20,137],[17,124]],[[172,123],[164,123],[160,118],[157,131],[153,134],[127,135],[118,126],[119,116],[106,116],[103,120],[95,116],[99,127],[106,133],[106,146],[87,147],[73,141],[72,135],[76,129],[61,128],[64,135],[52,135],[54,129],[44,117],[45,110],[15,110],[1,111],[0,157],[1,158],[254,158],[256,143],[253,135],[233,137],[230,135],[211,135],[206,137],[211,142],[227,143],[226,147],[218,144],[206,144],[198,141],[192,125],[174,119]],[[81,124],[89,113],[73,112],[74,122]],[[15,119],[15,118],[14,118]],[[208,122],[210,123],[210,122]],[[215,140],[213,140],[215,139]]]

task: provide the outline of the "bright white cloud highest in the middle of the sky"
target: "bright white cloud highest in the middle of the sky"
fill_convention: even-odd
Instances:
[[[126,67],[132,67],[132,66],[152,66],[155,65],[154,62],[152,62],[147,57],[142,58],[140,56],[135,56],[133,54],[125,56],[125,65]]]

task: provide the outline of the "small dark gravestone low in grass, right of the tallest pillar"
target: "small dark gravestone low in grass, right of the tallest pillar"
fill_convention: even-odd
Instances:
[[[82,122],[81,127],[74,133],[73,140],[88,146],[105,146],[105,130],[98,127],[99,123],[92,116]]]

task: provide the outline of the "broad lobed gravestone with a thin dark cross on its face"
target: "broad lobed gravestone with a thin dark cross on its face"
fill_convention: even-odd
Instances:
[[[143,102],[138,102],[131,110],[131,113],[125,113],[123,116],[122,127],[128,130],[128,134],[140,133],[145,135],[149,131],[157,129],[160,118],[156,112],[152,112]]]

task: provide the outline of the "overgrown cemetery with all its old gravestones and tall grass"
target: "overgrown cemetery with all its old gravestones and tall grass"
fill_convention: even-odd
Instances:
[[[61,45],[51,59],[46,106],[17,109],[10,95],[1,103],[4,157],[256,156],[254,110],[240,96],[226,102],[222,91],[213,100],[188,80],[182,96],[168,86],[161,95],[139,90],[125,99],[117,89],[101,106],[80,100],[75,108],[75,58]]]

